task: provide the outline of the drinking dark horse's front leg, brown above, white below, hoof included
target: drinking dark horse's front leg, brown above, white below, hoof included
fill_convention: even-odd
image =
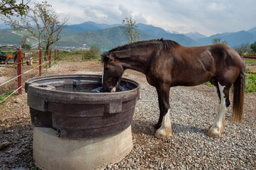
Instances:
[[[155,137],[164,138],[172,136],[172,124],[169,113],[169,85],[163,84],[157,87],[158,103],[160,108],[160,118],[157,126],[160,128],[155,132]]]

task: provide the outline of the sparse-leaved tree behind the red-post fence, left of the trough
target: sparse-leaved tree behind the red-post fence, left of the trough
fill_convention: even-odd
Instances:
[[[33,35],[38,40],[38,50],[41,48],[43,39],[45,49],[48,50],[50,45],[60,40],[60,32],[68,20],[65,18],[60,22],[59,16],[50,10],[50,7],[47,1],[35,3],[33,8],[29,8],[27,16],[19,16],[16,20],[6,16],[4,21],[16,30],[25,30]]]

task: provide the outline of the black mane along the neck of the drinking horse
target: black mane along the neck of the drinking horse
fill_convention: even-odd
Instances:
[[[104,54],[101,55],[101,62],[108,62],[108,55],[111,52],[116,52],[116,51],[120,51],[120,50],[126,50],[126,49],[130,49],[130,48],[137,48],[137,47],[145,47],[147,45],[162,45],[162,47],[164,48],[164,50],[171,50],[175,47],[179,46],[178,42],[175,42],[173,40],[163,40],[161,39],[157,39],[157,40],[144,40],[144,41],[138,41],[138,42],[133,42],[127,45],[123,45],[123,46],[118,46],[116,48],[113,48],[112,50],[109,50],[108,52],[104,52]]]

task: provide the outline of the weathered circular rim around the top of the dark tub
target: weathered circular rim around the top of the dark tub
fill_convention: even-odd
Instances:
[[[139,96],[140,94],[140,84],[138,82],[133,81],[131,79],[121,78],[121,81],[128,81],[128,83],[135,84],[135,89],[131,89],[128,91],[118,91],[118,92],[104,92],[104,93],[89,93],[89,92],[74,92],[74,91],[58,91],[58,90],[49,90],[42,87],[37,86],[38,84],[35,81],[40,81],[44,79],[65,79],[65,78],[97,78],[101,79],[101,75],[98,74],[58,74],[58,75],[50,75],[43,77],[35,77],[32,79],[28,79],[25,82],[25,90],[26,93],[29,94],[33,91],[33,95],[40,96],[45,98],[46,101],[56,101],[65,103],[67,98],[72,98],[73,100],[69,100],[68,103],[94,103],[102,101],[106,103],[109,98],[113,98],[115,100],[121,101],[129,101],[134,96]],[[50,87],[50,85],[48,85]],[[139,98],[139,97],[138,97]],[[57,99],[57,100],[56,100]]]

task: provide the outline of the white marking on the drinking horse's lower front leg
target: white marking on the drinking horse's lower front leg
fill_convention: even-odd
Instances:
[[[169,109],[167,113],[162,117],[162,125],[161,127],[155,132],[155,137],[162,138],[162,137],[169,137],[172,135],[172,124],[171,120],[169,119]]]

